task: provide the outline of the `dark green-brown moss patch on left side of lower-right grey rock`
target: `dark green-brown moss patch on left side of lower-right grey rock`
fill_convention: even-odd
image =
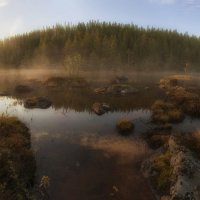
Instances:
[[[160,194],[166,194],[170,189],[170,177],[173,170],[170,166],[170,159],[171,154],[169,151],[154,158],[152,170],[155,171],[155,174],[151,178],[151,182]]]

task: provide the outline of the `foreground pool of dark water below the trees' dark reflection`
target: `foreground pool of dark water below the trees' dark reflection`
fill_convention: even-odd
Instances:
[[[104,116],[54,107],[29,110],[19,100],[1,97],[0,113],[29,126],[37,178],[50,177],[51,199],[153,199],[140,172],[140,160],[149,150],[137,138],[148,126],[148,110]],[[117,133],[121,117],[137,124],[133,136]]]

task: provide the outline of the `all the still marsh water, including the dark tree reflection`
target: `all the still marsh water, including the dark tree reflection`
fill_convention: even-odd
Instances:
[[[15,74],[11,76],[13,79],[7,77],[1,90],[12,93],[19,80]],[[134,74],[131,80],[140,88],[140,93],[127,97],[46,90],[0,97],[0,113],[17,116],[30,128],[37,162],[36,182],[43,175],[49,176],[50,199],[154,199],[140,171],[141,160],[151,153],[140,135],[153,126],[149,108],[156,99],[162,98],[156,85],[162,76],[147,80],[144,74]],[[97,77],[102,80],[102,76]],[[145,86],[150,89],[144,90]],[[24,108],[23,99],[32,95],[49,96],[52,107]],[[92,113],[91,105],[96,101],[109,103],[111,112],[103,116]],[[120,136],[116,130],[116,122],[124,117],[135,124],[133,134],[128,137]],[[174,131],[183,132],[199,128],[200,121],[189,117],[173,127]]]

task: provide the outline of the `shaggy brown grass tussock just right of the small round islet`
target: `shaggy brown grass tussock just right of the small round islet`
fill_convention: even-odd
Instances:
[[[161,100],[153,104],[152,112],[152,121],[157,124],[179,123],[184,119],[184,114],[179,108]]]

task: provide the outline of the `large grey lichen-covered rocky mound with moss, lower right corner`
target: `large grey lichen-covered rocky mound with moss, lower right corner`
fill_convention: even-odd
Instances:
[[[190,150],[194,143],[185,139],[183,133],[170,136],[167,145],[143,163],[158,199],[199,199],[200,162]]]

